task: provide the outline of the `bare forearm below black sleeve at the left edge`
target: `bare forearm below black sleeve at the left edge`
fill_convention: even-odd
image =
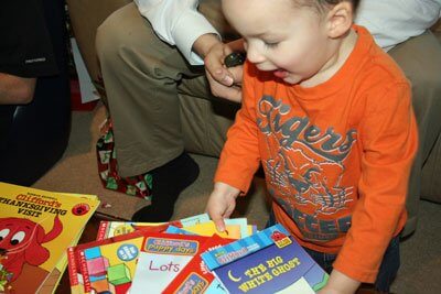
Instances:
[[[36,78],[0,73],[0,105],[24,105],[32,101]]]

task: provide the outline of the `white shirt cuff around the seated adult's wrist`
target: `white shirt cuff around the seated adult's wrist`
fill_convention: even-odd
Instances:
[[[204,61],[192,51],[194,42],[204,34],[220,35],[214,26],[197,11],[189,11],[181,15],[173,28],[172,36],[176,47],[191,65],[203,65]]]

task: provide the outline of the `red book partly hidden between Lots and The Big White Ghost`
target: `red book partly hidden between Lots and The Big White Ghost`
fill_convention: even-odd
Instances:
[[[217,235],[211,237],[202,247],[201,252],[213,250],[235,241]],[[212,294],[226,293],[220,283],[206,268],[201,254],[195,255],[185,268],[174,277],[162,293],[170,294]]]

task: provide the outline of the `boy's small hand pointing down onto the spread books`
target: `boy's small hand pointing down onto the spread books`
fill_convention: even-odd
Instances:
[[[236,207],[236,198],[240,190],[228,184],[217,182],[206,206],[206,211],[218,231],[225,231],[224,218],[229,218]]]

